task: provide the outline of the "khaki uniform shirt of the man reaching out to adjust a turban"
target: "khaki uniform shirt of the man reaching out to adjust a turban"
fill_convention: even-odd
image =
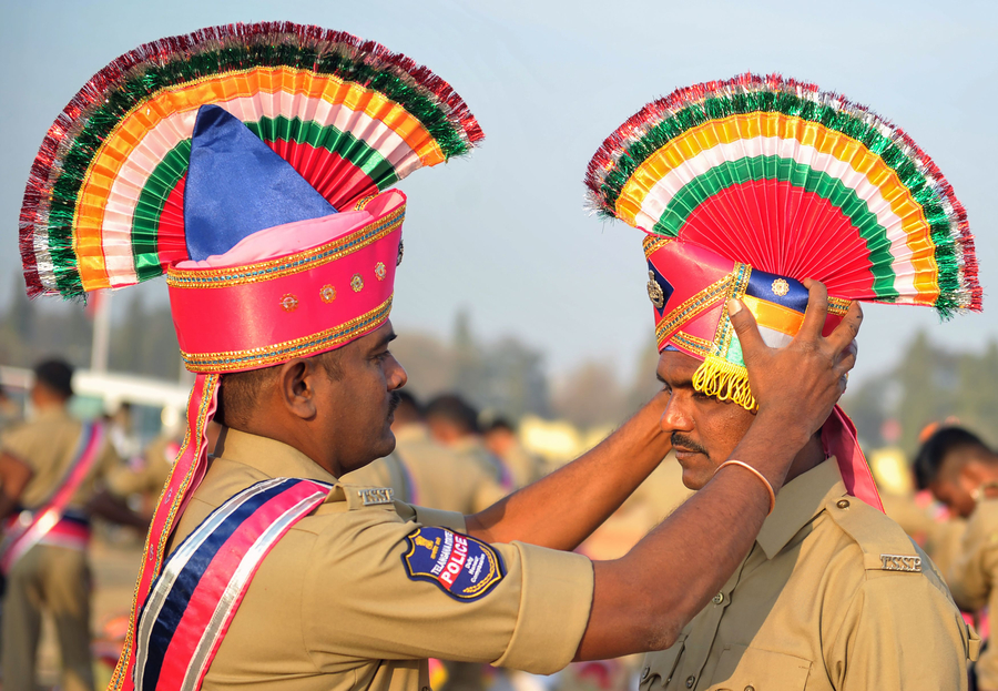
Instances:
[[[204,689],[295,691],[429,687],[427,658],[551,673],[574,656],[589,620],[592,565],[580,555],[495,545],[506,575],[475,600],[407,576],[406,537],[465,530],[464,517],[395,502],[365,506],[292,447],[227,430],[173,545],[240,490],[274,477],[335,484],[259,566]]]

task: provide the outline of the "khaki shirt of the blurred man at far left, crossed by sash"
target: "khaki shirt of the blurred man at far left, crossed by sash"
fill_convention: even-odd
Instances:
[[[27,464],[34,471],[21,495],[21,506],[34,509],[44,504],[65,478],[70,464],[77,457],[83,425],[70,417],[62,407],[49,407],[27,423],[6,430],[0,437],[0,449]],[[108,476],[121,460],[111,444],[104,444],[100,456],[75,494],[70,498],[69,510],[82,510],[93,498],[95,485]]]

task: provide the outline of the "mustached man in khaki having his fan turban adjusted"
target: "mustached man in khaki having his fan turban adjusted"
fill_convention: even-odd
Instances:
[[[899,162],[896,149],[882,157],[874,132],[904,140],[914,160]],[[737,459],[732,449],[757,419],[756,375],[744,358],[756,336],[733,337],[730,321],[748,312],[765,343],[792,347],[815,321],[827,333],[852,302],[877,299],[872,273],[912,265],[852,242],[855,210],[883,199],[876,170],[885,173],[876,183],[919,210],[913,216],[935,214],[927,197],[893,186],[902,166],[937,173],[920,156],[865,108],[775,74],[676,89],[604,140],[587,170],[589,202],[645,233],[658,375],[670,395],[662,428],[686,487],[702,491]],[[825,184],[837,192],[815,192]],[[959,204],[938,203],[944,223],[960,228],[951,242],[969,247]],[[876,231],[885,241],[887,232]],[[917,237],[929,237],[927,225]],[[920,266],[926,285],[938,286],[930,263]],[[979,308],[972,272],[960,277],[953,298]],[[815,281],[827,284],[827,312],[805,301]],[[955,304],[941,291],[927,298],[910,283],[904,289],[887,299],[944,313]],[[644,691],[967,689],[976,634],[928,558],[883,512],[855,426],[838,407],[822,423],[795,449],[787,484],[733,576],[669,649],[646,656]]]

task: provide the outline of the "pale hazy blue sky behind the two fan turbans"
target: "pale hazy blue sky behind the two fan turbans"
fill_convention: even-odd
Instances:
[[[2,18],[0,304],[20,271],[17,220],[31,161],[94,72],[165,35],[291,20],[347,30],[429,65],[485,129],[470,160],[400,185],[409,195],[393,312],[401,329],[448,334],[465,306],[478,334],[542,348],[554,373],[601,358],[630,376],[653,329],[641,233],[587,215],[585,164],[652,98],[755,71],[814,81],[893,119],[947,175],[977,235],[986,312],[939,324],[928,309],[869,306],[856,376],[890,366],[918,328],[960,348],[998,336],[988,299],[998,285],[987,157],[998,150],[994,3],[2,0]],[[165,299],[163,282],[152,283],[145,294]]]

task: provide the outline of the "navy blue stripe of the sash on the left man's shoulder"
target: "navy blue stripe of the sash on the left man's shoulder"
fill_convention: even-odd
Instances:
[[[136,670],[136,674],[142,677],[141,687],[144,689],[155,689],[159,683],[160,671],[163,664],[163,660],[166,654],[166,650],[170,648],[170,642],[173,639],[173,632],[176,627],[180,624],[181,619],[184,616],[184,612],[187,609],[187,604],[190,603],[191,596],[193,595],[195,588],[197,588],[198,582],[201,582],[201,578],[204,576],[205,570],[211,566],[215,556],[218,553],[218,550],[232,537],[233,532],[235,532],[243,522],[253,516],[256,510],[262,507],[264,504],[281,495],[282,492],[293,488],[295,485],[306,481],[296,478],[286,478],[277,481],[272,487],[264,489],[263,491],[257,491],[255,495],[245,498],[245,495],[252,495],[259,485],[264,485],[267,482],[275,482],[275,480],[263,480],[247,487],[238,495],[234,496],[232,499],[216,508],[212,514],[208,515],[207,518],[202,521],[201,526],[197,527],[191,535],[189,535],[184,541],[177,547],[174,552],[170,556],[170,559],[166,560],[166,563],[163,566],[163,572],[156,579],[157,581],[164,577],[164,575],[170,570],[170,562],[174,560],[177,555],[182,555],[185,550],[183,549],[189,542],[195,539],[201,539],[202,536],[200,532],[204,529],[211,530],[210,534],[204,537],[203,542],[197,546],[191,557],[187,559],[187,562],[183,566],[180,572],[176,576],[176,579],[173,586],[170,589],[166,599],[163,601],[162,607],[160,608],[159,614],[156,617],[155,622],[153,623],[152,631],[149,637],[149,646],[147,646],[147,654],[142,664],[141,669]],[[232,512],[222,520],[216,527],[211,528],[212,518],[222,511],[223,509],[231,509],[233,504],[238,504],[238,506],[232,510]],[[159,582],[153,583],[151,592],[154,592]],[[146,602],[146,607],[152,602],[152,598],[150,602]]]

